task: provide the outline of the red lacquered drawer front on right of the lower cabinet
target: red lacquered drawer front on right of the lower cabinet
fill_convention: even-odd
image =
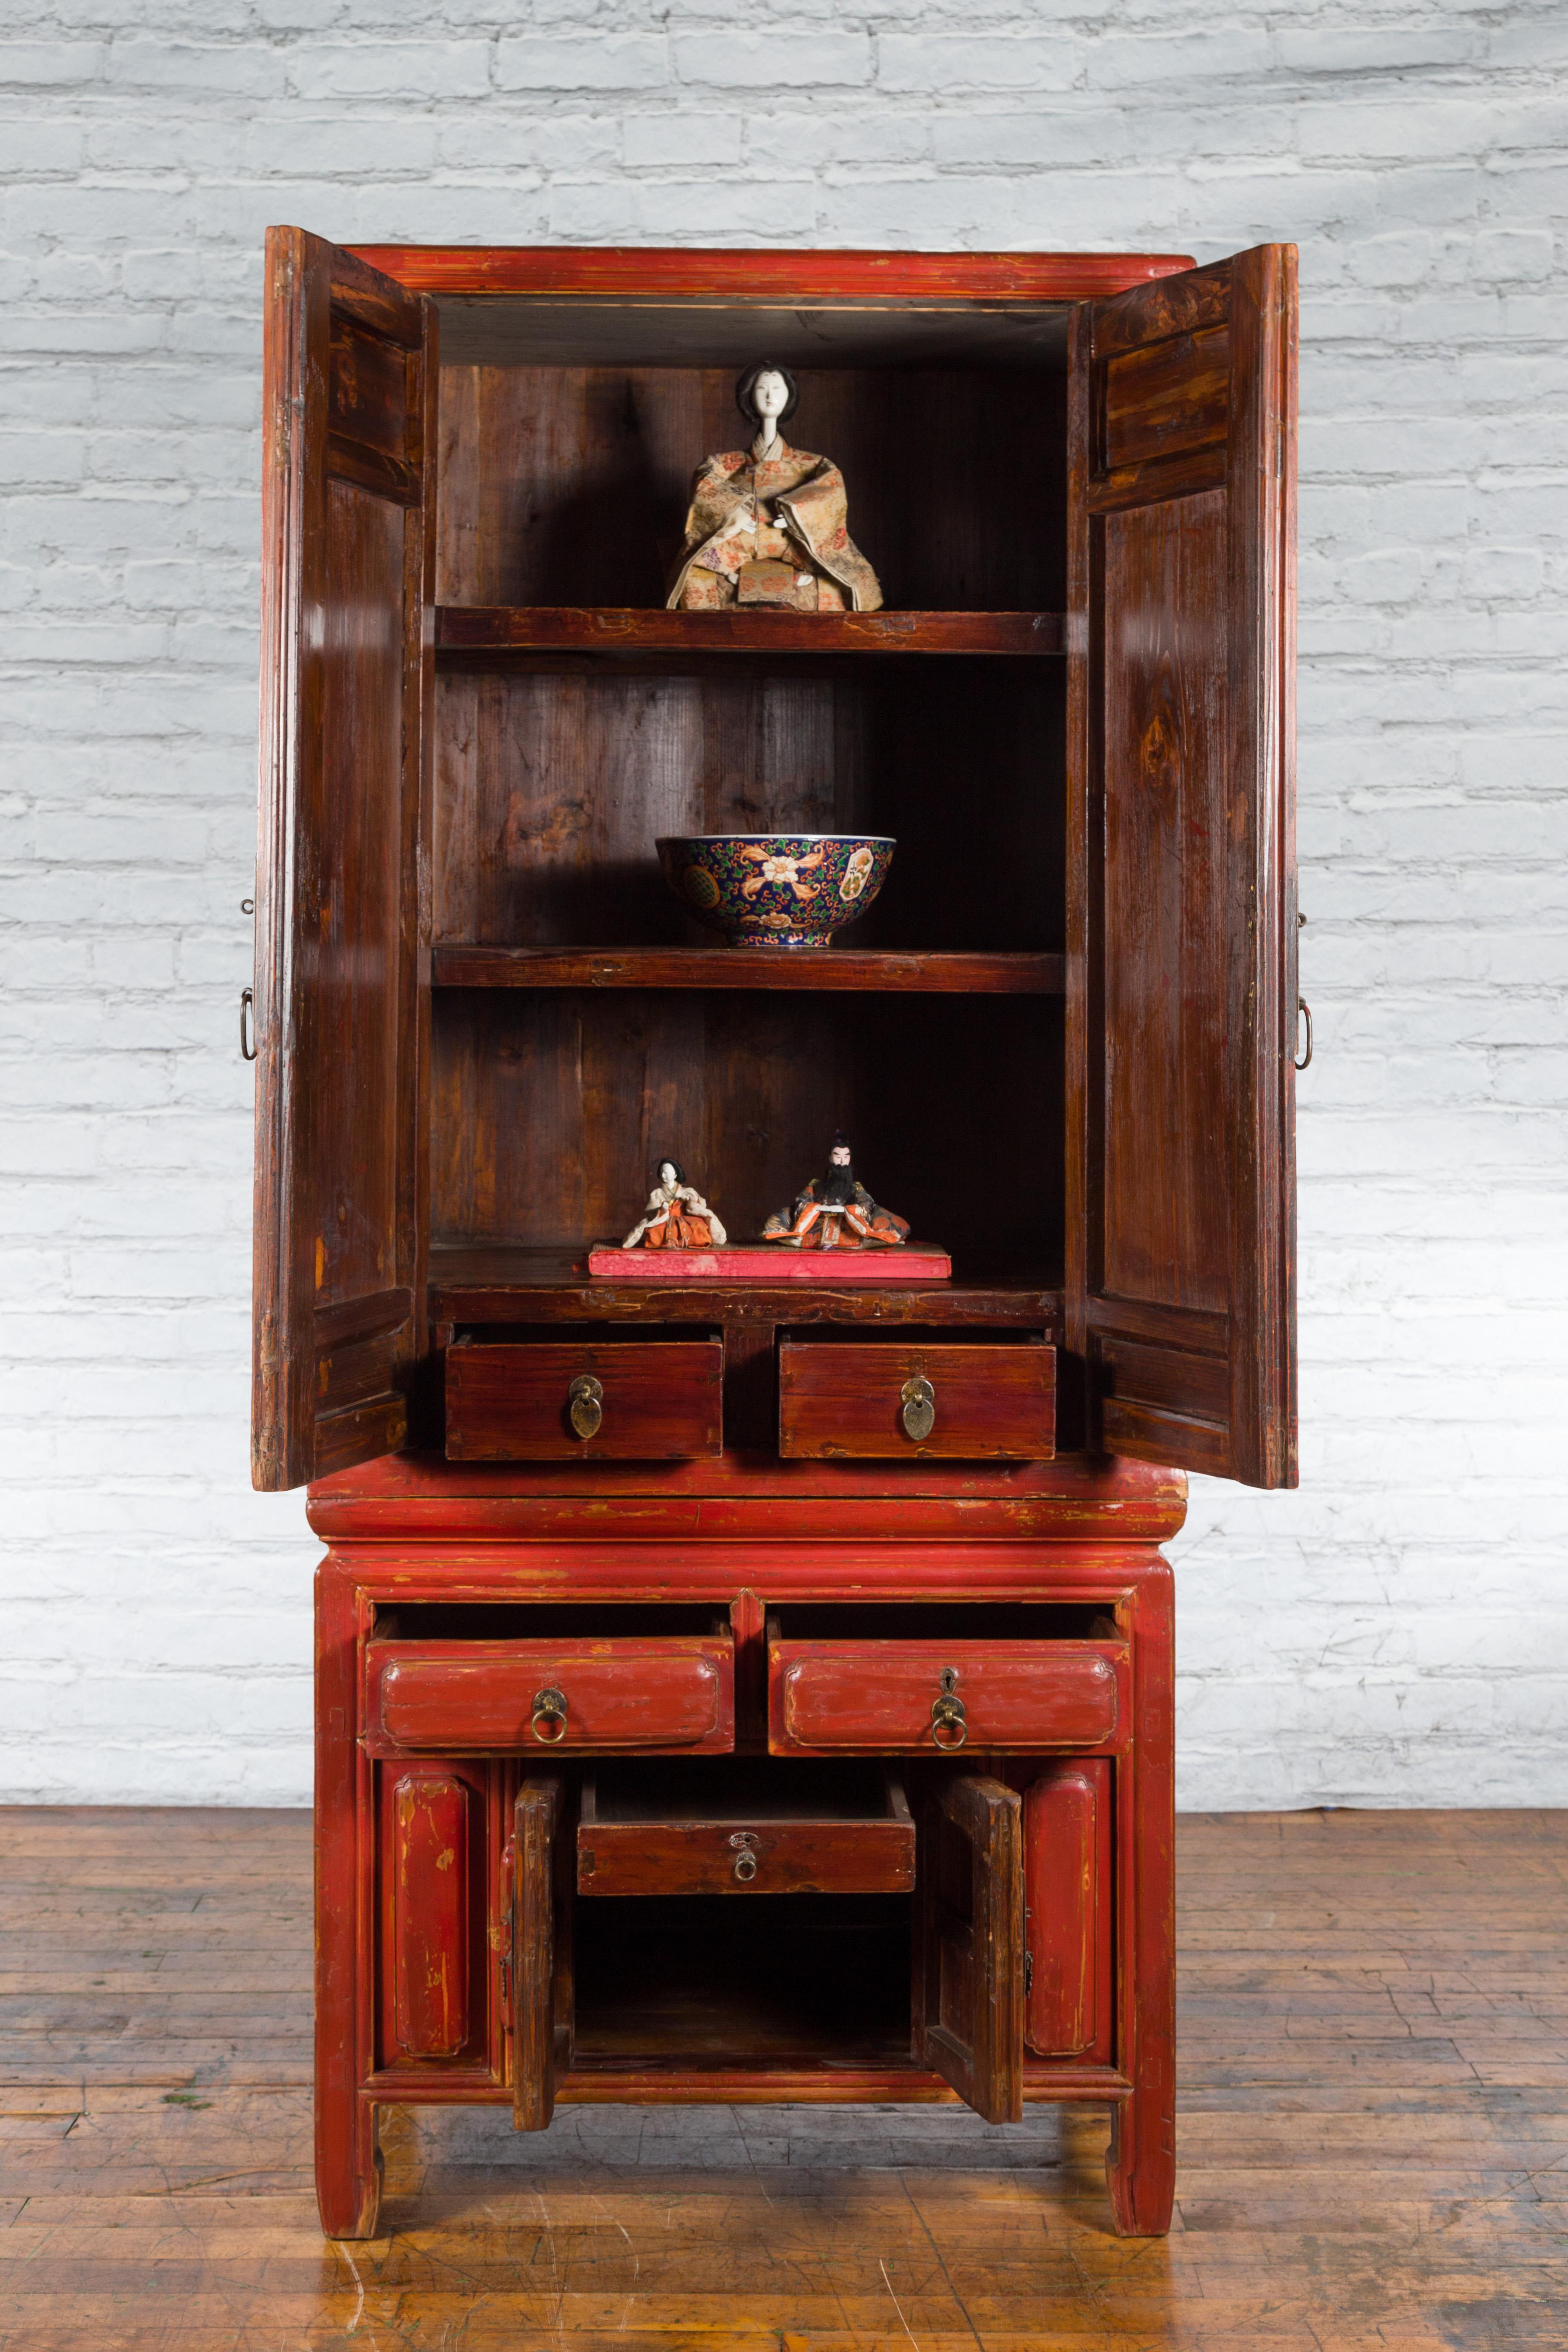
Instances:
[[[1119,1642],[771,1642],[773,1755],[1103,1748]]]

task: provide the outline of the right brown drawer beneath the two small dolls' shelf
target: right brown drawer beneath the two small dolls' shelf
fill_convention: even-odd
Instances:
[[[780,1341],[778,1451],[856,1461],[1056,1456],[1056,1348]]]

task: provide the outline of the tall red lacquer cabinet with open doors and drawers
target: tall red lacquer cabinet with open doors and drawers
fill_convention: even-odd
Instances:
[[[877,614],[663,607],[762,358]],[[1168,2225],[1159,1543],[1185,1470],[1295,1479],[1293,419],[1291,247],[270,235],[254,1475],[329,1545],[329,2234],[407,2100],[1103,2100]],[[757,955],[682,830],[898,854]],[[950,1282],[588,1275],[658,1152],[748,1235],[835,1127]]]

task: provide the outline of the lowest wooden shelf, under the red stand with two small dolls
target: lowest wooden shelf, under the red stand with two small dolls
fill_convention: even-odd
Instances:
[[[1056,1329],[1060,1272],[1046,1268],[971,1272],[950,1282],[595,1282],[588,1247],[529,1249],[517,1242],[435,1242],[430,1319],[477,1324],[543,1322],[750,1322],[750,1324],[1009,1324]]]

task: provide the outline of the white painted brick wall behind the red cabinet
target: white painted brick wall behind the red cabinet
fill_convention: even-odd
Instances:
[[[12,0],[0,1788],[308,1795],[247,1486],[261,230],[1302,247],[1302,1489],[1187,1804],[1568,1799],[1568,16]]]

